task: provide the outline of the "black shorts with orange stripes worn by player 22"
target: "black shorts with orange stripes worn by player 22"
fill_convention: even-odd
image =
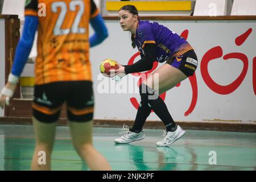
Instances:
[[[92,120],[94,109],[92,82],[61,81],[35,85],[33,116],[40,122],[55,122],[59,119],[64,102],[67,103],[69,121]]]

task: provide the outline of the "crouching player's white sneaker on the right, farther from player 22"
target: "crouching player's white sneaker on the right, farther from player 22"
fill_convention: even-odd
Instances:
[[[181,127],[178,125],[177,129],[174,132],[171,131],[164,131],[164,140],[156,142],[157,146],[168,146],[172,143],[174,143],[177,139],[185,135],[185,131],[181,129]]]

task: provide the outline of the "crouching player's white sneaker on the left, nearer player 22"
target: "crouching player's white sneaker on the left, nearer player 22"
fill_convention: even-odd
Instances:
[[[129,126],[123,125],[122,131],[119,134],[124,134],[122,137],[114,140],[115,143],[130,143],[145,138],[143,131],[140,133],[135,133],[129,130]]]

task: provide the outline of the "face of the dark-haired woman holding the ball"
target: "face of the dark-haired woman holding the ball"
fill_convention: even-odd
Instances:
[[[131,14],[127,10],[120,10],[118,13],[118,19],[120,26],[122,27],[123,31],[136,31],[138,16]]]

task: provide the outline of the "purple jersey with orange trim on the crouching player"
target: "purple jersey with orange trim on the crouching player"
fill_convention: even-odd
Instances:
[[[143,47],[146,43],[156,44],[156,59],[160,63],[169,57],[179,56],[193,49],[184,38],[169,28],[156,22],[139,20],[135,44],[143,55]]]

